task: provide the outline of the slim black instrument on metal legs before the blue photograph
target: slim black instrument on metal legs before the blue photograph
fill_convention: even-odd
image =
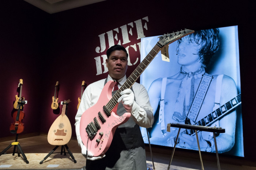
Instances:
[[[203,161],[202,161],[202,156],[201,156],[201,151],[200,151],[200,145],[199,145],[199,139],[198,139],[198,135],[197,135],[197,130],[206,131],[206,132],[213,132],[213,138],[214,138],[214,144],[215,144],[215,151],[216,151],[216,157],[217,157],[218,170],[221,169],[215,133],[225,133],[225,129],[223,129],[221,127],[208,127],[208,126],[198,126],[198,125],[179,124],[179,123],[177,123],[177,124],[171,124],[170,123],[168,125],[170,125],[172,127],[178,127],[179,128],[179,131],[178,131],[178,134],[177,134],[177,137],[176,137],[176,141],[175,141],[175,144],[174,144],[174,147],[173,147],[173,150],[172,150],[171,160],[170,160],[169,165],[168,165],[168,170],[170,169],[170,165],[171,165],[172,158],[173,158],[173,155],[174,155],[174,150],[175,150],[177,141],[179,139],[179,134],[180,134],[181,128],[195,130],[202,170],[204,170],[204,169],[203,169]]]

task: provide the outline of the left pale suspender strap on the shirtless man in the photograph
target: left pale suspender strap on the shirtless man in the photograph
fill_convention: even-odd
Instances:
[[[163,136],[166,136],[165,124],[164,124],[164,94],[167,83],[167,77],[162,78],[162,86],[161,86],[161,99],[160,99],[160,109],[159,109],[159,122],[161,125],[161,133]]]

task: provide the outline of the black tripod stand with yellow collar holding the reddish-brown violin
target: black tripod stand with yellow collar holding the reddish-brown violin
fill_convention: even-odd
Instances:
[[[18,102],[18,104],[19,104],[18,112],[20,111],[21,105],[24,105],[25,103],[26,103],[25,101]],[[11,132],[11,133],[13,133],[13,132]],[[21,149],[20,143],[17,142],[17,141],[18,141],[17,129],[15,129],[15,132],[14,132],[14,133],[16,133],[15,142],[12,142],[7,148],[5,148],[5,149],[0,153],[0,156],[3,155],[3,154],[7,154],[7,153],[5,153],[5,152],[6,152],[8,149],[10,149],[12,145],[14,145],[14,149],[13,149],[12,155],[15,154],[15,150],[16,150],[16,146],[17,146],[17,152],[16,152],[16,153],[18,154],[18,156],[20,156],[20,154],[21,154],[21,155],[23,156],[24,161],[26,161],[26,163],[29,163],[29,161],[27,160],[27,157],[25,156],[24,152],[23,152],[22,149]]]

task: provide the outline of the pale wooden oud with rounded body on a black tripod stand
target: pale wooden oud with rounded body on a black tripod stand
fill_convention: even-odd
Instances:
[[[49,129],[47,139],[51,145],[65,145],[71,139],[72,128],[66,115],[66,105],[68,103],[70,103],[70,100],[63,102],[61,115],[57,117]]]

